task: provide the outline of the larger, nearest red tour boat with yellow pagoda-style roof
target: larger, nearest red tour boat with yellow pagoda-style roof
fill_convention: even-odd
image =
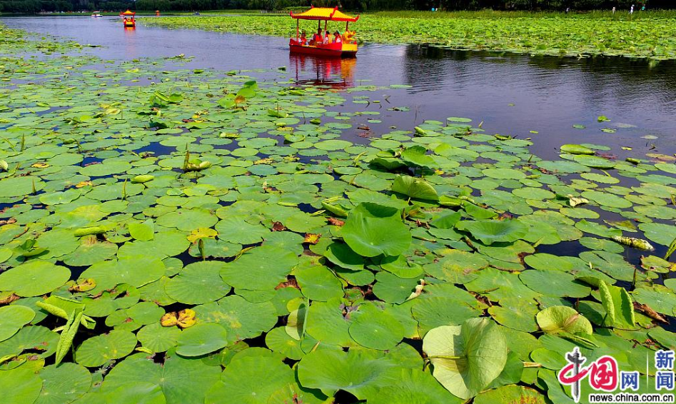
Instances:
[[[333,9],[328,7],[312,7],[308,11],[301,14],[289,13],[291,18],[296,19],[296,38],[291,38],[288,41],[289,51],[296,54],[308,54],[315,56],[355,56],[357,54],[357,41],[354,39],[354,32],[349,31],[350,22],[355,22],[359,16],[351,17],[338,11],[338,7]],[[303,44],[301,39],[300,20],[316,20],[318,21],[317,29],[322,32],[322,38],[326,35],[328,28],[328,21],[340,21],[345,23],[345,32],[341,35],[340,42],[333,42],[331,44],[311,44],[311,39],[308,38],[307,43]],[[321,21],[324,21],[324,29],[321,30]]]

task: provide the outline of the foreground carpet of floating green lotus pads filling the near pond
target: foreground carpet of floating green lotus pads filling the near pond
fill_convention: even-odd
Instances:
[[[0,34],[6,403],[571,403],[573,346],[675,348],[676,158],[649,144],[543,158],[413,123],[402,84]]]

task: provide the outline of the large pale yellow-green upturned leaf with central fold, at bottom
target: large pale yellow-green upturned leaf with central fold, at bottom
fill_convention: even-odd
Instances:
[[[507,363],[507,340],[498,325],[470,318],[463,325],[443,325],[423,339],[432,374],[460,398],[478,395],[500,375]]]

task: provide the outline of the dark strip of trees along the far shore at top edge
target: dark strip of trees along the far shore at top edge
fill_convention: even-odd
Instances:
[[[282,10],[292,7],[340,6],[350,11],[395,10],[553,10],[571,11],[616,7],[638,11],[667,9],[675,6],[673,0],[0,0],[0,12],[34,14],[41,11],[119,11],[123,9],[198,11],[221,9]]]

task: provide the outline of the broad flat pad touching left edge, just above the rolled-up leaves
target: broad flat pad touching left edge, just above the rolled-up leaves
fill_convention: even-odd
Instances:
[[[64,286],[71,271],[53,263],[31,260],[0,273],[0,291],[13,291],[19,296],[40,296]]]

